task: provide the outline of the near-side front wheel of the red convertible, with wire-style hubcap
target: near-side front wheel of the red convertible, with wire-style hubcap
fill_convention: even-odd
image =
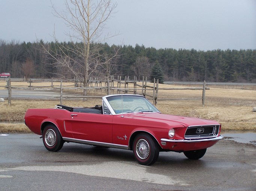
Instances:
[[[133,142],[133,155],[139,164],[152,165],[158,159],[159,146],[150,135],[138,134]]]

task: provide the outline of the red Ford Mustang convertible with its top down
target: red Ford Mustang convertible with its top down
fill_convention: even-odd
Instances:
[[[200,159],[223,138],[216,121],[162,114],[141,95],[107,95],[94,107],[28,109],[24,120],[49,151],[64,142],[122,148],[141,165],[152,165],[160,151]]]

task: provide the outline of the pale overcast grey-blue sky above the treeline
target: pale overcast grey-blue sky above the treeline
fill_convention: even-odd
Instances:
[[[59,10],[63,0],[52,0]],[[256,0],[117,0],[110,45],[196,50],[256,49]],[[50,0],[0,0],[0,39],[69,41]]]

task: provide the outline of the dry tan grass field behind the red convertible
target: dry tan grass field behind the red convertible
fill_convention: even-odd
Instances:
[[[0,83],[0,88],[3,83]],[[29,84],[12,82],[12,87],[27,87]],[[50,86],[48,83],[33,83],[33,86]],[[60,83],[55,82],[54,87],[59,87]],[[72,85],[72,83],[64,83]],[[147,85],[152,85],[148,83]],[[70,86],[69,86],[70,87]],[[132,84],[129,84],[133,88]],[[173,85],[160,85],[160,88],[179,88]],[[180,87],[184,88],[184,86]],[[72,95],[82,95],[81,90],[64,90]],[[141,93],[141,91],[137,91]],[[114,92],[114,94],[116,91]],[[152,91],[147,91],[152,94]],[[100,91],[92,90],[90,95],[105,95]],[[157,108],[166,114],[191,116],[216,120],[222,124],[222,130],[255,130],[256,131],[256,112],[252,112],[256,107],[256,90],[235,90],[211,88],[206,91],[205,107],[202,107],[202,90],[159,90],[159,98],[192,98],[194,100],[171,100],[158,101]],[[198,100],[195,100],[199,98]],[[151,102],[150,98],[148,98]],[[53,108],[59,104],[59,100],[13,100],[8,105],[8,101],[0,103],[0,133],[23,132],[30,130],[24,125],[23,118],[28,108]],[[67,106],[94,106],[101,104],[101,99],[90,98],[88,101],[82,100],[64,100],[63,104]]]

